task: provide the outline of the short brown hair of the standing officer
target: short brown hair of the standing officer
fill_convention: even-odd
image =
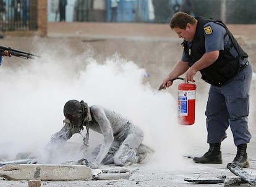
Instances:
[[[174,28],[181,28],[185,30],[187,27],[187,23],[194,25],[195,18],[185,12],[177,12],[171,18],[169,25],[172,30]]]

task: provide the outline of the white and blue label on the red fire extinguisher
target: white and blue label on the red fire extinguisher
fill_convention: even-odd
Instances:
[[[177,103],[179,116],[187,116],[188,100],[195,100],[195,90],[179,90]]]

